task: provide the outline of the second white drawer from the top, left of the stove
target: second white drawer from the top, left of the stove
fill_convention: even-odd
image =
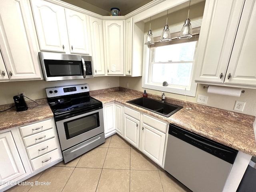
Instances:
[[[42,131],[40,133],[24,137],[23,141],[24,141],[25,146],[28,147],[30,145],[34,145],[34,144],[43,142],[45,140],[48,140],[54,136],[55,136],[54,130],[48,129],[46,131]]]

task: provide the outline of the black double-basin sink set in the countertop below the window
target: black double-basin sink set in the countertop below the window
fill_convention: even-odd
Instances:
[[[182,106],[170,103],[162,103],[161,101],[146,97],[130,100],[127,101],[127,103],[136,105],[146,110],[150,110],[165,117],[170,117],[172,114],[183,108]]]

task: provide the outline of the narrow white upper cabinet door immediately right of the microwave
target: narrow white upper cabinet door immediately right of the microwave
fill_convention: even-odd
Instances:
[[[102,20],[90,17],[94,76],[105,75]]]

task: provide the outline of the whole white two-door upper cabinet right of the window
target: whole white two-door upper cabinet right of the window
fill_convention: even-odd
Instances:
[[[206,1],[196,82],[255,88],[255,17],[255,0]]]

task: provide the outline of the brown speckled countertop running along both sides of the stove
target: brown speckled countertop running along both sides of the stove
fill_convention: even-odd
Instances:
[[[103,104],[118,102],[236,150],[240,150],[246,154],[256,156],[256,142],[253,129],[254,116],[166,98],[166,102],[168,103],[183,106],[181,110],[166,118],[154,112],[126,103],[126,101],[142,97],[142,92],[125,88],[110,88],[108,91],[90,91],[90,95],[100,100]],[[148,97],[161,100],[161,96],[153,94],[148,94]],[[15,107],[1,112],[0,130],[53,117],[46,99],[39,100],[38,103],[39,105],[37,107],[29,108],[22,112],[16,112]],[[28,106],[30,105],[33,104],[28,103]],[[10,105],[0,106],[0,111],[9,107]],[[187,108],[192,109],[188,110]]]

